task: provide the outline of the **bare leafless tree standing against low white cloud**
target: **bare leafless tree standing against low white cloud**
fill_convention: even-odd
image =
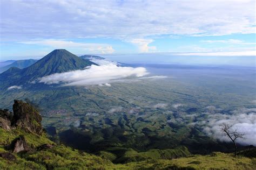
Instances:
[[[237,144],[235,143],[235,140],[238,138],[244,138],[244,133],[239,132],[238,129],[233,129],[233,125],[230,125],[228,123],[223,123],[220,125],[220,131],[224,133],[225,136],[230,138],[234,144],[235,153],[234,156],[237,156]]]

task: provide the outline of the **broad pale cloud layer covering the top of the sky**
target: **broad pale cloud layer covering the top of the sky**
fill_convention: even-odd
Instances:
[[[254,0],[3,1],[1,11],[9,39],[255,33]]]

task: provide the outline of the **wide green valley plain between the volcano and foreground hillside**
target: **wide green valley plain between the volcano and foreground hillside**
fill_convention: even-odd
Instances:
[[[253,100],[251,94],[217,94],[207,88],[198,90],[193,83],[183,84],[171,79],[115,83],[111,88],[14,89],[4,90],[2,94],[2,108],[12,104],[13,96],[29,98],[41,110],[43,127],[55,129],[52,139],[90,153],[117,146],[145,152],[181,145],[192,154],[232,151],[233,145],[223,145],[206,136],[202,126],[190,124],[207,120],[207,115],[201,113],[207,112],[209,105],[215,105],[227,115],[239,107],[253,108],[248,102]],[[157,103],[167,106],[154,108]],[[172,106],[175,103],[185,105],[176,109]],[[194,110],[191,108],[197,110],[191,112]]]

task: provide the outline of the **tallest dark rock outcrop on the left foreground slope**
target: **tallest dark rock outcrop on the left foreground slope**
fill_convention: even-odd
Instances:
[[[30,104],[19,100],[14,100],[12,109],[14,111],[12,125],[21,127],[29,132],[37,134],[43,133],[41,125],[42,117]]]

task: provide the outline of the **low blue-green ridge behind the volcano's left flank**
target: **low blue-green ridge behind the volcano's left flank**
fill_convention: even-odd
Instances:
[[[17,67],[17,68],[26,68],[31,66],[33,63],[37,62],[38,60],[34,60],[34,59],[28,59],[28,60],[17,60],[12,62],[10,65],[4,66],[0,68],[0,73],[5,72],[6,70],[8,70],[11,67]]]

